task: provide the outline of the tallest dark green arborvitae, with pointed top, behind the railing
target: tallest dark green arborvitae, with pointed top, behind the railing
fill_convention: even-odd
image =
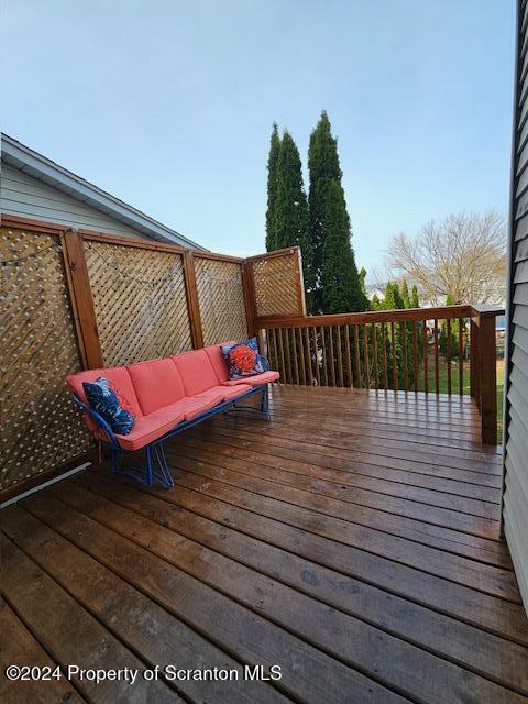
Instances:
[[[361,288],[350,242],[350,219],[341,186],[338,142],[332,136],[330,120],[324,111],[310,136],[308,168],[316,279],[311,312],[366,310],[369,300]],[[332,272],[334,266],[339,266],[339,273],[338,270]],[[331,286],[331,290],[324,293],[327,284]],[[331,307],[328,308],[328,305]]]

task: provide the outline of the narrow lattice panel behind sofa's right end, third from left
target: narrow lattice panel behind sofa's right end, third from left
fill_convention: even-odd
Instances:
[[[242,268],[237,262],[195,257],[204,344],[248,337]]]

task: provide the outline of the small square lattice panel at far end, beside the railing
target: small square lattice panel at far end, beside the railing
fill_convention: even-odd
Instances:
[[[302,315],[297,252],[252,262],[256,316]]]

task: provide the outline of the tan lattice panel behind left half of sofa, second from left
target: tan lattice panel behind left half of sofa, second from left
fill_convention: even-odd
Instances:
[[[106,366],[193,349],[182,255],[85,241]]]

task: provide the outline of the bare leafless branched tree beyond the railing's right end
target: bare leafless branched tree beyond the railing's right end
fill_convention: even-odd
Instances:
[[[418,286],[420,298],[443,305],[501,304],[506,285],[506,224],[491,210],[451,215],[427,223],[415,237],[399,233],[386,253],[394,278]]]

